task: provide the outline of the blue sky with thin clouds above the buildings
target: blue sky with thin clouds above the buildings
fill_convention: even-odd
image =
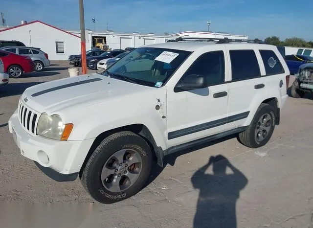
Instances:
[[[79,0],[0,0],[9,26],[42,21],[79,30]],[[85,28],[170,34],[207,30],[264,40],[313,40],[313,0],[85,0]],[[95,18],[95,24],[92,23]]]

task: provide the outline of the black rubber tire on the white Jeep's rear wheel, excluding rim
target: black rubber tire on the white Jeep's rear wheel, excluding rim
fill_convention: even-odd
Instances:
[[[259,120],[263,116],[268,116],[271,122],[269,123],[270,129],[267,132],[266,137],[262,141],[257,140],[257,127]],[[256,111],[250,125],[246,129],[246,131],[239,133],[238,141],[243,145],[250,148],[259,148],[268,143],[270,137],[272,136],[275,128],[275,110],[271,105],[262,103],[258,110]],[[258,128],[259,130],[260,128]],[[264,130],[263,130],[264,131]],[[259,131],[261,132],[261,130]]]

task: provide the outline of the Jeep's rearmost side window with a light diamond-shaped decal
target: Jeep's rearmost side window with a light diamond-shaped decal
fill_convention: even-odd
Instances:
[[[281,62],[274,51],[260,50],[260,54],[264,63],[266,75],[285,73]]]

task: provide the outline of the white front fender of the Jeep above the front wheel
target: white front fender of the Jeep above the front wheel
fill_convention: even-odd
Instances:
[[[134,99],[128,97],[124,98],[123,102],[114,99],[80,110],[79,114],[76,114],[77,116],[71,118],[74,128],[68,140],[96,138],[100,134],[116,128],[142,124],[150,131],[156,145],[165,150],[166,97],[160,95],[145,97],[144,94],[142,97],[140,102],[132,102],[138,99],[137,97]],[[162,108],[156,110],[156,105]],[[71,115],[74,115],[74,112]]]

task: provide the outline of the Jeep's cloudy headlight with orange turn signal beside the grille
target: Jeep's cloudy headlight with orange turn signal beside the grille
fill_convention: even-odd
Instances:
[[[73,124],[64,124],[58,114],[41,114],[37,124],[37,135],[56,140],[67,140]]]

